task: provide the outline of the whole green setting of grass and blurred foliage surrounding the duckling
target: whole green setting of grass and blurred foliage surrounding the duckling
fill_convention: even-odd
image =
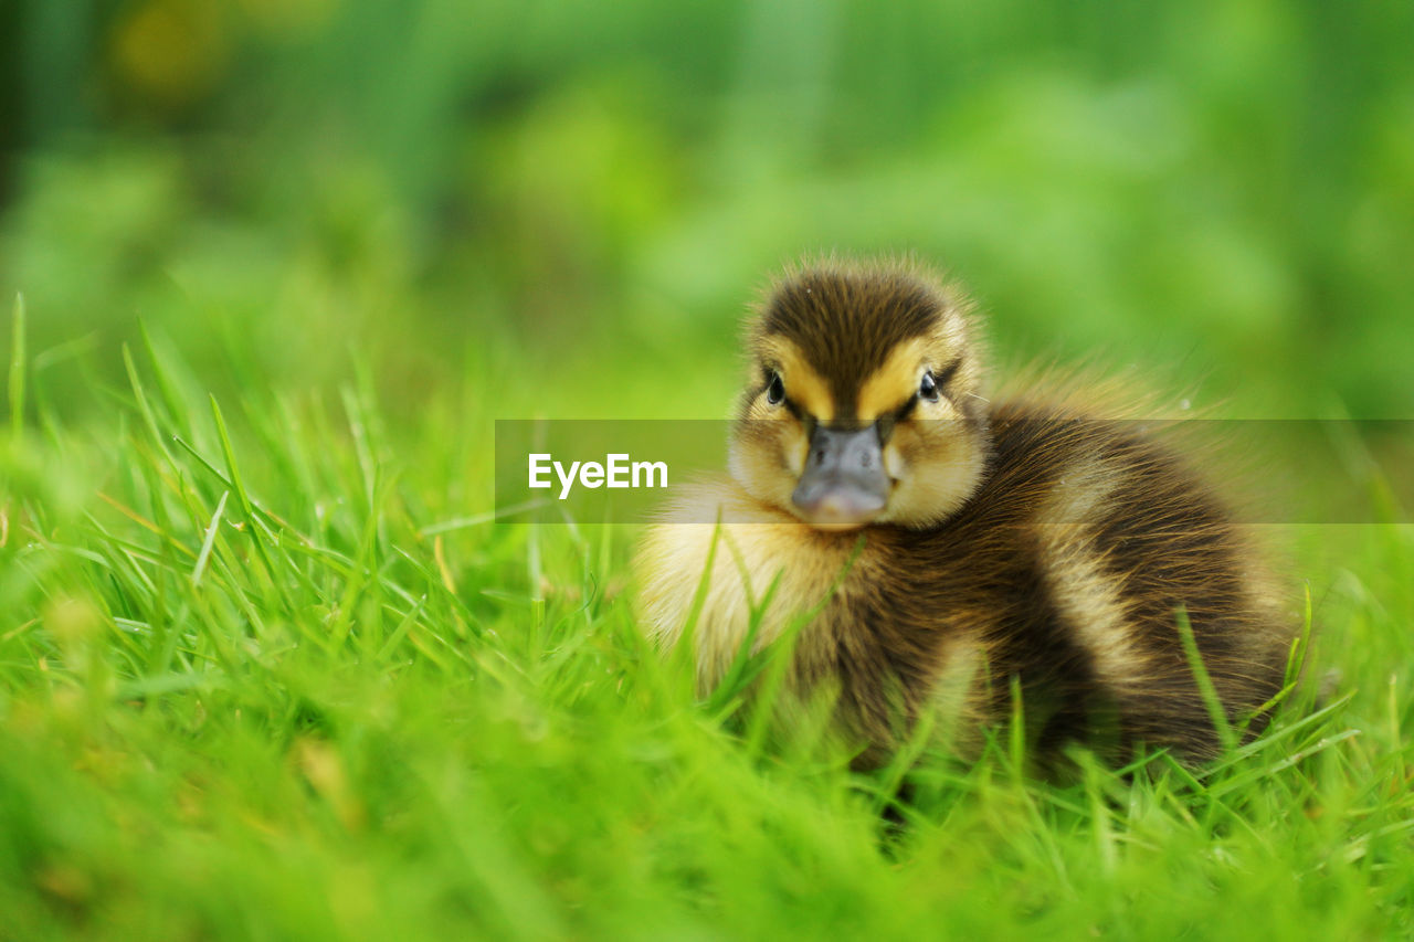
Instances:
[[[1380,0],[0,3],[0,941],[1414,936],[1411,48]],[[493,518],[496,419],[720,420],[831,249],[950,266],[1003,366],[1291,429],[1233,426],[1340,508],[1267,516],[1261,738],[851,774],[646,649],[632,526]]]

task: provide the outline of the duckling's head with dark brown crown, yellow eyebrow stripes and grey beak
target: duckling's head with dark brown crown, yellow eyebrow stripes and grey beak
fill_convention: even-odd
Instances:
[[[987,460],[974,332],[959,294],[905,266],[788,274],[748,328],[732,477],[817,529],[942,522]]]

